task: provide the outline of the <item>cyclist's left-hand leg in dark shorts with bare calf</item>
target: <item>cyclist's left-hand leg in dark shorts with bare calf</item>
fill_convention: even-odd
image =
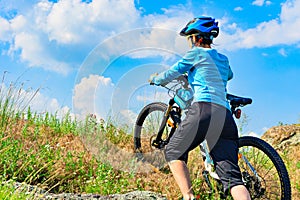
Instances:
[[[207,106],[209,112],[203,112],[203,106]],[[204,140],[209,125],[210,111],[210,104],[194,103],[165,150],[166,160],[185,200],[194,198],[185,161],[187,161],[188,152]],[[206,115],[203,116],[202,113]]]

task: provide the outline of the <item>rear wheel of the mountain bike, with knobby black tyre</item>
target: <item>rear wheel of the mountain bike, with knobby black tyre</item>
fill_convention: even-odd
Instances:
[[[291,199],[286,167],[267,142],[251,136],[239,138],[239,167],[251,199]]]

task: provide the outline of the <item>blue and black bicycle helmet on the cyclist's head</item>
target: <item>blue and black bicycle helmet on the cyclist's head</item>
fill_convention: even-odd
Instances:
[[[180,31],[181,36],[189,36],[192,34],[201,35],[212,40],[219,34],[218,22],[211,17],[196,17],[189,21],[189,23],[187,23]]]

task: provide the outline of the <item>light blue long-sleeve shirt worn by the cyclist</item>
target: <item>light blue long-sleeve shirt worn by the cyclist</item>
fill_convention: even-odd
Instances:
[[[167,84],[183,73],[194,91],[194,101],[212,102],[230,109],[227,81],[233,77],[228,58],[215,49],[193,47],[170,69],[154,77],[154,84]]]

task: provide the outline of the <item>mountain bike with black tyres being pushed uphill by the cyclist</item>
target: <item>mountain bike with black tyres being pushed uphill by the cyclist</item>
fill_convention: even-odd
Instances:
[[[169,85],[169,84],[168,84]],[[178,124],[184,117],[182,102],[178,92],[188,89],[187,76],[175,79],[168,90],[168,104],[154,102],[146,105],[139,113],[134,128],[134,151],[137,158],[149,162],[155,167],[165,165],[163,149]],[[251,98],[227,94],[232,114],[241,117],[241,107],[252,103]],[[253,136],[242,136],[238,139],[238,165],[242,173],[244,185],[252,199],[291,199],[290,179],[283,160],[276,150],[264,140]],[[203,178],[211,192],[222,194],[220,178],[214,171],[213,160],[209,155],[206,141],[200,145],[200,153],[204,162]],[[215,187],[213,183],[217,183]]]

